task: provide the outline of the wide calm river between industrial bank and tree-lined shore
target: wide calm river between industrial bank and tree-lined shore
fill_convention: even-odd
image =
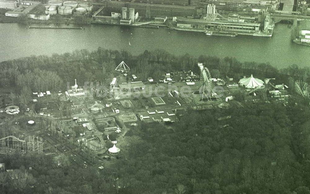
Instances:
[[[240,61],[269,62],[285,68],[310,65],[310,46],[291,42],[287,24],[276,24],[272,37],[216,37],[200,32],[113,25],[78,29],[29,29],[25,24],[0,23],[0,61],[31,55],[62,54],[74,50],[125,50],[133,55],[163,49],[174,55],[236,57]]]

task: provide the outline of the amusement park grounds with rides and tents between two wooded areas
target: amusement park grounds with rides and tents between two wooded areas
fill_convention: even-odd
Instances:
[[[160,80],[140,80],[122,61],[115,68],[117,76],[104,86],[109,90],[105,97],[99,92],[103,86],[82,88],[77,80],[66,91],[35,92],[32,106],[24,114],[13,104],[2,109],[2,122],[9,122],[8,130],[15,135],[1,138],[0,147],[53,155],[58,166],[62,163],[60,154],[85,168],[103,166],[121,156],[119,152],[128,144],[126,133],[142,123],[178,122],[188,109],[243,107],[233,100],[236,91],[245,94],[245,102],[274,100],[287,104],[287,86],[274,78],[262,81],[251,75],[235,83],[229,76],[212,77],[202,63],[197,67],[199,73],[170,72]],[[309,96],[307,83],[296,81],[295,85],[296,93]]]

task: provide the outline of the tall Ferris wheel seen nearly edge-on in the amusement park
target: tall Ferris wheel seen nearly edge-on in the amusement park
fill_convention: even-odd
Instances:
[[[211,73],[208,68],[203,67],[202,63],[198,63],[198,67],[200,70],[200,82],[202,82],[203,84],[201,101],[203,101],[203,97],[205,96],[205,94],[207,98],[211,100],[211,93],[215,96],[215,93],[212,90]]]

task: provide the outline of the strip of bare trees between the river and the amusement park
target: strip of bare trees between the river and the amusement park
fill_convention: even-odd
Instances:
[[[259,78],[278,78],[289,83],[289,77],[310,82],[310,68],[299,68],[293,64],[288,68],[277,69],[271,64],[256,62],[240,62],[232,57],[220,59],[201,55],[174,56],[163,50],[144,51],[143,54],[132,56],[126,51],[111,51],[98,48],[96,51],[74,51],[62,55],[31,56],[0,63],[0,86],[18,86],[19,91],[53,92],[65,89],[67,82],[71,84],[78,79],[78,85],[97,81],[108,84],[116,76],[114,69],[121,62],[131,68],[131,74],[139,80],[147,81],[162,78],[163,73],[173,71],[193,71],[198,73],[197,63],[209,68],[212,77],[230,75],[239,80],[243,75],[255,74]]]

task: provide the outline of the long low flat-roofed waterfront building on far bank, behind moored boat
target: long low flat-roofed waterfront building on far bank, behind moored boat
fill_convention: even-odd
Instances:
[[[197,20],[191,18],[178,18],[177,27],[182,29],[197,29],[197,30],[216,30],[227,32],[240,33],[258,33],[259,23],[249,22],[229,22],[229,21],[212,21],[212,20]]]

